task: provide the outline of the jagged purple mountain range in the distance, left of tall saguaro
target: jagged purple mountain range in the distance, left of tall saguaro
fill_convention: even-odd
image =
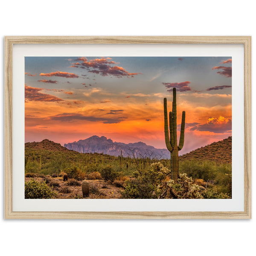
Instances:
[[[158,159],[169,158],[170,152],[165,148],[154,148],[153,146],[146,145],[143,142],[136,143],[121,143],[113,142],[111,139],[107,139],[102,136],[92,136],[85,140],[75,141],[73,143],[64,144],[65,148],[78,151],[80,153],[104,153],[108,155],[118,156],[121,154],[124,157],[154,157]]]

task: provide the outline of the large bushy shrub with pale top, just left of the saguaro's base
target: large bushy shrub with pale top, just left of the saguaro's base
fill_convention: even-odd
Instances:
[[[134,172],[126,181],[123,198],[158,198],[157,186],[166,178],[170,170],[160,162],[152,163],[149,169]]]

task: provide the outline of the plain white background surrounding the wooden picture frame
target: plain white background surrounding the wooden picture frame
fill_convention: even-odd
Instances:
[[[253,1],[250,0],[3,1],[0,15],[2,170],[4,35],[252,35],[255,60],[255,22]],[[253,86],[252,91],[255,99]],[[255,143],[253,133],[253,145]],[[252,172],[255,167],[253,160]],[[2,172],[2,255],[222,256],[255,253],[254,204],[252,220],[4,220],[3,180]],[[255,185],[253,174],[254,188]],[[253,201],[254,198],[255,189]]]

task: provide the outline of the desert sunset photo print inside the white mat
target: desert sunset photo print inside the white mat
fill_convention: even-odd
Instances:
[[[232,58],[25,57],[25,199],[232,198]]]

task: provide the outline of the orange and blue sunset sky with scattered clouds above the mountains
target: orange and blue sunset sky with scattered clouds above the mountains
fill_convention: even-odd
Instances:
[[[231,57],[25,57],[25,142],[98,135],[166,148],[163,98],[172,111],[176,87],[187,153],[232,135],[231,66]]]

